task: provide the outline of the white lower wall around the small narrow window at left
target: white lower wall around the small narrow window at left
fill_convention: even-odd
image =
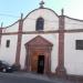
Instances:
[[[10,40],[10,46],[7,48],[7,40]],[[2,35],[1,48],[0,48],[0,60],[7,61],[10,64],[13,64],[15,61],[15,51],[17,51],[17,35]]]

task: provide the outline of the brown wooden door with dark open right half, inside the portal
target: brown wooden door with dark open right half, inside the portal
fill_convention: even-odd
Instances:
[[[35,73],[44,73],[45,56],[42,54],[33,54],[31,59],[31,71]]]

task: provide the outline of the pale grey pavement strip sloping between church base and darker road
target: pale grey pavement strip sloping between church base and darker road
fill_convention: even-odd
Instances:
[[[0,73],[0,77],[1,76],[30,77],[30,79],[43,80],[43,81],[49,81],[49,82],[54,82],[54,83],[79,83],[79,82],[68,81],[64,79],[51,77],[46,75],[27,73],[27,72]]]

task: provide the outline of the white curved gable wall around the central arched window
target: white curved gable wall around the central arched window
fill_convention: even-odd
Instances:
[[[59,18],[52,11],[48,9],[39,9],[31,12],[23,22],[23,31],[35,31],[35,21],[38,18],[44,19],[44,31],[53,31],[59,29]]]

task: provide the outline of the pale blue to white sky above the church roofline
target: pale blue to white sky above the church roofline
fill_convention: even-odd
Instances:
[[[39,8],[41,0],[0,0],[0,25],[11,25],[21,13],[23,18],[32,10]],[[59,15],[61,9],[64,9],[64,14],[71,18],[83,20],[83,0],[43,0],[44,7],[54,10]]]

